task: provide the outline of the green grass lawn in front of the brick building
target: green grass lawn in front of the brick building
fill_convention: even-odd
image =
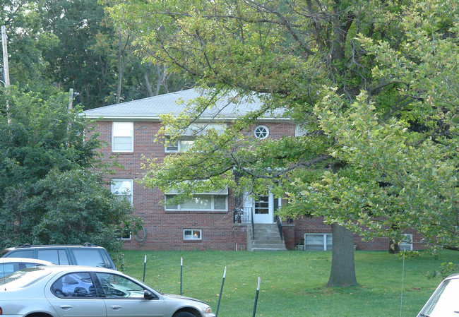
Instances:
[[[387,252],[356,251],[359,286],[326,288],[331,252],[287,251],[124,251],[124,272],[143,279],[162,292],[179,294],[180,258],[183,258],[182,294],[207,301],[215,312],[227,266],[220,317],[251,317],[258,277],[261,287],[256,316],[415,317],[441,281],[427,273],[441,263],[459,263],[459,252],[403,260]]]

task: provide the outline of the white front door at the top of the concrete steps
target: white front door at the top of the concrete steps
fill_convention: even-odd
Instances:
[[[280,199],[274,198],[274,195],[260,195],[256,198],[244,199],[244,210],[251,210],[254,216],[254,223],[274,223],[274,212],[279,207]]]

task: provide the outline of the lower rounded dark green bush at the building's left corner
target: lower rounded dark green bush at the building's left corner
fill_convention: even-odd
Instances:
[[[38,225],[28,228],[35,244],[90,241],[114,250],[121,246],[116,239],[121,226],[133,225],[131,203],[114,198],[97,174],[52,170],[37,181],[32,195],[24,209],[40,217]]]

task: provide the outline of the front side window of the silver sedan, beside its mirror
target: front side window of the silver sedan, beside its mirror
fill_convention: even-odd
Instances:
[[[126,277],[111,273],[96,273],[106,297],[139,299],[144,288]]]

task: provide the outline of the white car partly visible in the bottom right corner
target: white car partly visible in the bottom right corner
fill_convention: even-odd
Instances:
[[[459,311],[459,279],[451,279],[443,282],[419,316],[429,317],[456,317]]]

